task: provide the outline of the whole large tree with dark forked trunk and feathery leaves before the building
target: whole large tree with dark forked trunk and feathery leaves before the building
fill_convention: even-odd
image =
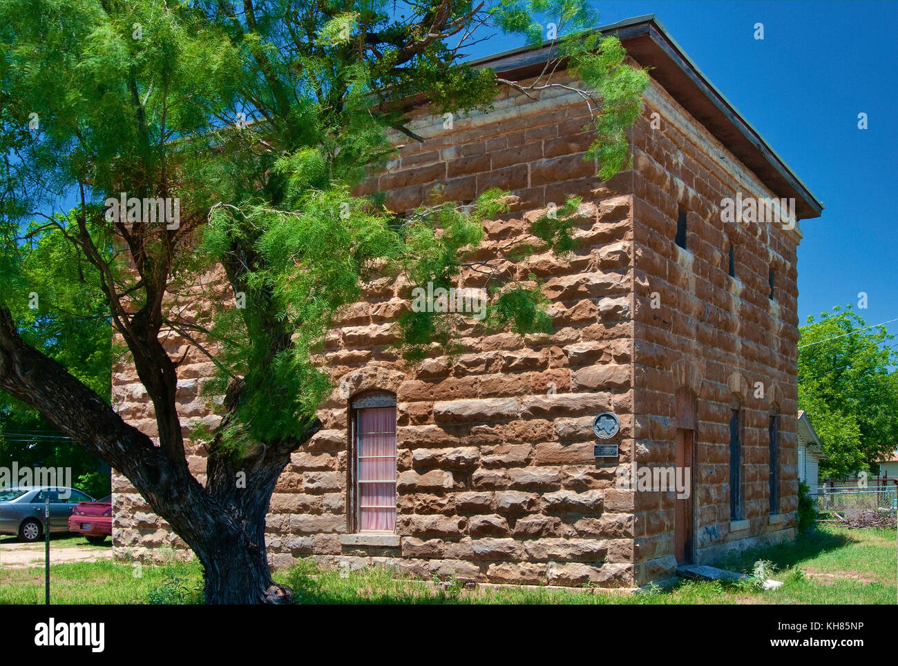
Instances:
[[[0,16],[0,386],[134,484],[198,556],[208,602],[288,600],[269,573],[265,515],[291,453],[320,427],[331,386],[316,351],[331,318],[378,277],[453,285],[483,222],[509,206],[489,191],[406,217],[376,193],[352,195],[392,158],[391,137],[420,140],[407,101],[485,110],[502,85],[531,95],[558,85],[566,59],[593,113],[588,157],[608,178],[627,165],[647,75],[624,63],[617,39],[588,31],[594,15],[572,0],[0,0]],[[463,48],[497,32],[540,44],[540,16],[568,37],[535,83],[464,64]],[[571,200],[534,223],[542,248],[569,250],[576,215]],[[90,267],[66,289],[105,300],[158,445],[21,329],[27,294],[41,291],[22,238],[48,230]],[[496,285],[481,324],[550,329],[539,285],[504,275],[499,259],[478,262]],[[207,287],[222,280],[227,303]],[[219,307],[180,316],[198,300]],[[39,307],[52,320],[59,304]],[[458,318],[403,314],[409,363],[451,345]],[[205,486],[185,459],[172,333],[217,368],[204,390],[221,425],[190,434],[207,451]]]

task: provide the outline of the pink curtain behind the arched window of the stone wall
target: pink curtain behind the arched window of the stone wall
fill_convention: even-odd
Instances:
[[[358,528],[396,528],[396,407],[358,410]]]

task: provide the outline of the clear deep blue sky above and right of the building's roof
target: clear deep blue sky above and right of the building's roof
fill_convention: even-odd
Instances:
[[[898,318],[898,3],[627,0],[601,23],[654,13],[720,92],[823,201],[801,222],[798,318],[858,306]],[[753,38],[764,24],[764,39]],[[493,39],[476,55],[518,46]],[[868,128],[858,129],[858,113]],[[888,324],[898,335],[898,321]]]

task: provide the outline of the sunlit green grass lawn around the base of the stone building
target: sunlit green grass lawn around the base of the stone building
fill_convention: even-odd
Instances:
[[[100,547],[102,548],[102,547]],[[614,594],[589,590],[539,590],[478,587],[457,582],[431,585],[411,581],[389,569],[341,574],[304,560],[277,572],[297,601],[337,603],[562,603],[562,604],[893,604],[898,595],[894,530],[845,530],[824,527],[795,543],[759,548],[718,565],[752,572],[757,560],[772,563],[778,590],[762,592],[752,583],[682,581],[670,590]],[[201,569],[197,563],[144,566],[109,561],[50,567],[53,603],[197,603]],[[42,603],[43,569],[0,567],[0,603]]]

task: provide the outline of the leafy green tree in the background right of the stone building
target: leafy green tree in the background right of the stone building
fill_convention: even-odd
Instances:
[[[850,306],[809,317],[798,342],[798,405],[823,443],[821,473],[850,476],[898,442],[898,353],[893,336]]]

